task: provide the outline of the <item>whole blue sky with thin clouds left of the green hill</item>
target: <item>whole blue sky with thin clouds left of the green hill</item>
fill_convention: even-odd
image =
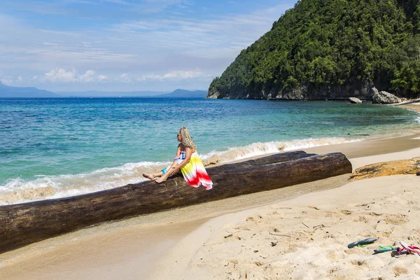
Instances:
[[[0,81],[52,91],[207,90],[295,2],[0,0]]]

